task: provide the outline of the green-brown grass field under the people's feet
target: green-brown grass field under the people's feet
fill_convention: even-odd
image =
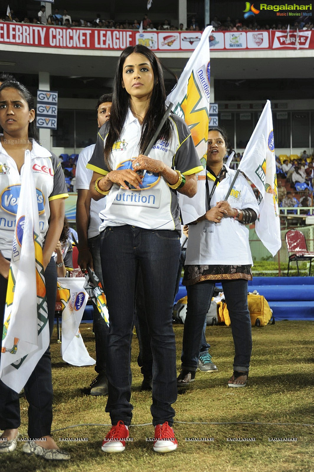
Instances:
[[[81,325],[89,353],[94,356],[90,324]],[[177,366],[183,325],[174,325]],[[93,366],[73,367],[60,357],[56,333],[51,341],[54,385],[53,436],[72,455],[65,463],[48,462],[22,453],[22,442],[11,454],[0,456],[1,472],[312,472],[314,471],[314,322],[280,321],[253,328],[253,354],[246,388],[228,388],[232,373],[233,342],[226,326],[207,327],[213,360],[219,370],[197,372],[194,384],[179,392],[174,430],[178,449],[158,454],[152,449],[151,395],[140,392],[142,376],[136,363],[138,343],[133,337],[133,426],[126,450],[105,454],[102,439],[110,426],[106,397],[86,395],[95,377]],[[26,436],[27,402],[21,399]],[[88,424],[87,424],[88,423]],[[148,424],[146,424],[148,423]],[[202,424],[200,424],[202,423]],[[73,425],[77,425],[72,428]],[[88,438],[59,442],[59,438]],[[187,441],[186,438],[213,438]],[[249,438],[250,441],[231,441]],[[272,438],[297,438],[278,442]],[[252,440],[255,439],[255,440]]]

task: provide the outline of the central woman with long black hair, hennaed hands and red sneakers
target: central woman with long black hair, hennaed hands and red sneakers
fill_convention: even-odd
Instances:
[[[203,168],[187,125],[172,114],[149,155],[143,155],[165,109],[159,60],[145,46],[128,47],[116,69],[110,121],[103,125],[87,165],[94,170],[92,197],[99,200],[108,195],[100,213],[102,273],[110,316],[106,411],[113,425],[103,441],[105,452],[124,450],[123,438],[128,436],[132,418],[130,343],[139,266],[152,337],[151,413],[154,437],[158,438],[153,448],[158,452],[177,448],[171,428],[171,404],[177,398],[171,320],[180,253],[177,191],[192,197],[196,193],[195,172]]]

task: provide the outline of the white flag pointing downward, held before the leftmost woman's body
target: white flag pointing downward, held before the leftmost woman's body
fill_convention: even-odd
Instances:
[[[25,163],[17,206],[2,336],[0,378],[20,392],[49,346],[46,287],[31,155]]]

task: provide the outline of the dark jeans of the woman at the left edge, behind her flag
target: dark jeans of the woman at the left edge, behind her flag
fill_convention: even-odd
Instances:
[[[51,258],[44,271],[48,305],[48,322],[52,334],[57,296],[57,268]],[[0,275],[0,311],[4,320],[4,307],[8,280]],[[27,310],[27,307],[25,307]],[[1,355],[1,352],[0,352]],[[41,438],[51,433],[52,380],[50,346],[38,361],[27,380],[24,392],[28,401],[28,436]],[[0,380],[0,430],[16,429],[21,424],[19,394]]]

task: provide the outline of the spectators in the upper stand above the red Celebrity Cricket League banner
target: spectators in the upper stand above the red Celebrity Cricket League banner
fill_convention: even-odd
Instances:
[[[72,20],[73,17],[73,20]],[[5,16],[1,17],[0,21],[5,22],[16,22],[16,23],[32,23],[32,24],[42,24],[42,25],[58,25],[70,27],[84,27],[84,28],[104,28],[104,29],[127,29],[127,30],[138,30],[143,26],[143,30],[147,31],[202,31],[204,29],[203,25],[199,25],[197,19],[192,17],[188,22],[187,28],[183,27],[183,24],[172,25],[171,22],[167,19],[163,21],[152,20],[148,17],[147,14],[144,14],[142,20],[128,20],[125,21],[115,21],[113,19],[104,19],[101,14],[98,13],[96,18],[89,19],[78,19],[75,18],[72,13],[68,14],[68,10],[64,9],[63,12],[59,11],[59,8],[55,8],[53,14],[46,15],[46,7],[41,6],[40,11],[37,14],[37,17],[29,18],[24,17],[23,20],[19,19],[13,10],[11,10],[10,17]],[[230,17],[227,17],[226,20],[219,19],[214,17],[211,21],[213,31],[255,31],[255,30],[287,30],[288,24],[272,24],[272,25],[261,25],[254,23],[244,24],[241,20],[231,20]],[[310,17],[300,17],[293,25],[290,25],[290,30],[312,30],[314,29],[314,24],[311,22]]]

